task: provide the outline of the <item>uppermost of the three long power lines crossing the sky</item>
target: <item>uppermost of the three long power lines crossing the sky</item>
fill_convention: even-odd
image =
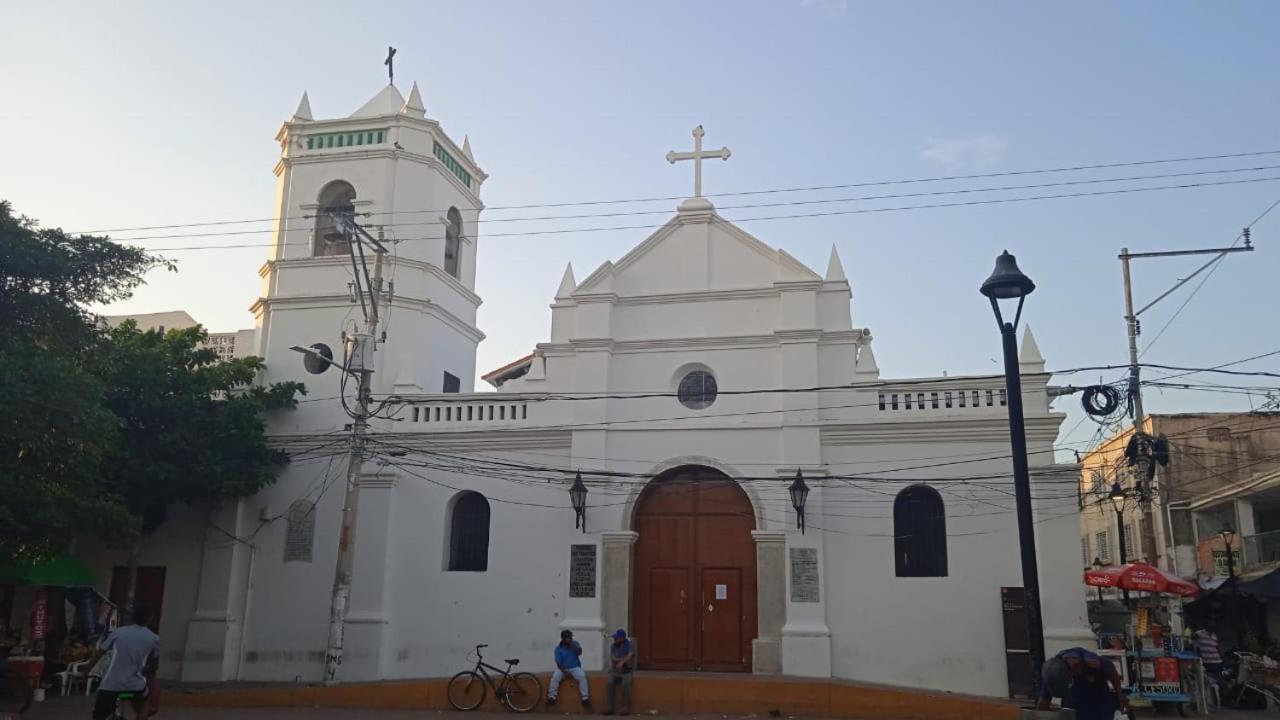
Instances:
[[[1257,158],[1263,155],[1280,155],[1280,150],[1258,150],[1252,152],[1233,152],[1224,155],[1198,155],[1188,158],[1165,158],[1157,160],[1132,160],[1125,163],[1100,163],[1089,165],[1071,165],[1071,167],[1057,167],[1057,168],[1038,168],[1028,170],[1009,170],[1000,173],[977,173],[977,174],[964,174],[964,176],[938,176],[938,177],[925,177],[925,178],[908,178],[908,179],[890,179],[890,181],[865,181],[855,183],[842,183],[842,184],[824,184],[824,186],[808,186],[808,187],[782,187],[782,188],[769,188],[769,190],[750,190],[740,192],[719,192],[708,193],[707,197],[742,197],[754,195],[773,195],[773,193],[786,193],[786,192],[818,192],[827,190],[850,190],[858,187],[878,187],[878,186],[891,186],[891,184],[915,184],[915,183],[928,183],[928,182],[948,182],[948,181],[966,181],[966,179],[987,179],[987,178],[1000,178],[1000,177],[1016,177],[1016,176],[1032,176],[1032,174],[1048,174],[1048,173],[1071,173],[1083,170],[1102,170],[1112,168],[1134,168],[1142,165],[1161,165],[1161,164],[1174,164],[1174,163],[1199,163],[1204,160],[1230,160],[1239,158]],[[631,199],[614,199],[614,200],[586,200],[586,201],[561,201],[561,202],[535,202],[525,205],[495,205],[486,208],[489,211],[498,210],[530,210],[539,208],[580,208],[591,205],[617,205],[617,204],[631,204],[631,202],[663,202],[663,201],[678,201],[685,200],[681,196],[659,196],[659,197],[631,197]],[[429,210],[384,210],[379,213],[370,213],[370,215],[397,215],[397,214],[431,214],[431,213],[447,213],[447,208],[429,209]],[[113,232],[141,232],[141,231],[154,231],[154,229],[173,229],[173,228],[188,228],[188,227],[218,227],[218,225],[233,225],[233,224],[247,224],[247,223],[270,223],[283,219],[306,219],[307,215],[287,215],[284,218],[252,218],[242,220],[211,220],[211,222],[198,222],[198,223],[175,223],[168,225],[138,225],[138,227],[124,227],[124,228],[99,228],[91,231],[77,231],[70,234],[92,234],[92,233],[113,233]]]

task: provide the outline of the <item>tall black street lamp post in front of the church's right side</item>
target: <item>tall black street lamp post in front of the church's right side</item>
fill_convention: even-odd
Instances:
[[[1005,350],[1005,393],[1009,404],[1009,441],[1014,461],[1014,503],[1018,507],[1018,546],[1023,565],[1023,597],[1027,605],[1027,630],[1030,646],[1032,682],[1039,691],[1041,667],[1044,666],[1044,623],[1041,618],[1039,568],[1036,564],[1036,525],[1032,515],[1032,479],[1027,466],[1027,421],[1023,416],[1023,378],[1018,366],[1018,322],[1023,302],[1036,290],[1036,283],[1018,269],[1018,260],[1006,250],[996,258],[996,269],[982,283],[982,293],[991,300]],[[1001,300],[1016,300],[1014,320],[1006,322],[1000,311]]]

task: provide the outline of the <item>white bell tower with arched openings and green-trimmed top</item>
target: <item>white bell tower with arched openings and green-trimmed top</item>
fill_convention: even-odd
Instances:
[[[266,379],[297,379],[315,386],[312,396],[333,395],[289,347],[324,342],[340,356],[340,336],[360,316],[351,283],[372,258],[362,259],[333,232],[329,213],[347,211],[370,233],[381,231],[390,249],[380,296],[387,337],[375,354],[374,392],[471,391],[484,338],[475,272],[480,186],[488,176],[467,138],[460,145],[426,117],[413,83],[408,99],[388,85],[334,119],[316,119],[303,94],[276,140],[275,241],[252,306]],[[316,407],[294,414],[296,429],[343,421],[320,415],[334,415],[328,402],[308,405]]]

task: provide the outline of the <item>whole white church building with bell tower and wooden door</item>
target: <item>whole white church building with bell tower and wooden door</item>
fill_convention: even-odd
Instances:
[[[311,452],[253,497],[175,511],[146,544],[141,565],[164,569],[163,674],[323,678],[352,420],[342,373],[308,374],[291,347],[340,355],[360,316],[358,249],[325,238],[325,210],[346,209],[388,225],[394,290],[340,680],[448,676],[479,643],[547,671],[566,628],[602,669],[604,634],[626,628],[641,670],[1009,693],[1002,588],[1021,575],[1004,380],[882,375],[835,249],[808,268],[780,245],[814,238],[758,238],[695,192],[626,255],[547,278],[545,341],[475,392],[476,268],[503,260],[481,249],[470,142],[416,85],[334,119],[303,96],[276,137],[256,352],[265,382],[307,384],[270,432]],[[1075,469],[1052,465],[1064,415],[1029,333],[1020,363],[1055,652],[1091,638],[1061,498]]]

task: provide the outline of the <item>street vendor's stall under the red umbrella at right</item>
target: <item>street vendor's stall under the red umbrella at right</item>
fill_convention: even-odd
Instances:
[[[1146,593],[1132,601],[1123,630],[1098,634],[1098,653],[1111,657],[1120,669],[1129,702],[1134,707],[1174,706],[1185,714],[1190,706],[1207,711],[1204,669],[1199,656],[1169,632],[1161,596],[1196,597],[1199,587],[1146,562],[1103,565],[1087,570],[1084,583]]]

